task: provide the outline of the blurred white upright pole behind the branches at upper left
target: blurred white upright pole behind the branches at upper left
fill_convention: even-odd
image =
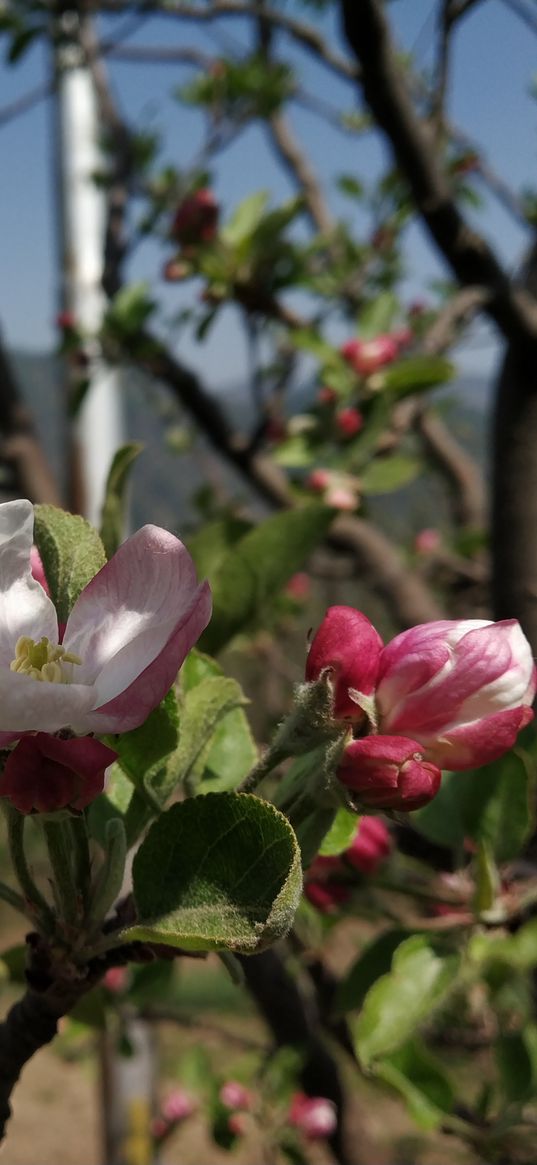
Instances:
[[[82,17],[86,20],[87,17]],[[82,508],[99,525],[112,458],[126,442],[120,373],[103,359],[98,333],[106,308],[101,287],[106,204],[93,181],[103,170],[99,116],[91,71],[79,43],[80,17],[65,12],[56,50],[62,308],[72,312],[85,340],[90,388],[75,430],[82,476]]]

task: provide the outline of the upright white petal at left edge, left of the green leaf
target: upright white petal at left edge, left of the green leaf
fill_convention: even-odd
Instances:
[[[58,641],[54,603],[33,578],[34,507],[21,500],[0,506],[0,669],[9,668],[21,635]]]

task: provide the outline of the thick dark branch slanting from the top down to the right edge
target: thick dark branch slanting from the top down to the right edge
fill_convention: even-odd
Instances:
[[[366,100],[389,140],[416,209],[462,287],[483,287],[487,312],[506,338],[537,337],[537,304],[514,283],[462,217],[419,121],[379,0],[341,0],[345,30],[362,70]]]

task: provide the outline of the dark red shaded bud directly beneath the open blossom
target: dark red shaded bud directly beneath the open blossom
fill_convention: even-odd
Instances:
[[[61,740],[38,732],[9,754],[0,775],[0,797],[20,813],[84,809],[103,792],[105,770],[116,753],[92,736]]]

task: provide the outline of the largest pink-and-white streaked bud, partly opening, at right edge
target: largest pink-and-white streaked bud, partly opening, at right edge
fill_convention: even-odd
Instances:
[[[532,720],[535,690],[531,649],[516,619],[422,623],[382,651],[380,732],[419,741],[440,768],[488,764]]]

